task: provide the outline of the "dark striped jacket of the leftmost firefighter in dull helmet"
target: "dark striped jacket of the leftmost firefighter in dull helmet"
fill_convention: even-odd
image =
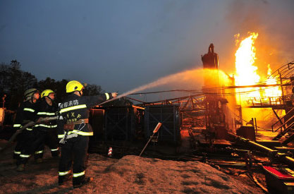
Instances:
[[[36,117],[36,104],[37,103],[30,103],[29,100],[23,102],[18,108],[16,113],[16,120],[13,124],[13,128],[20,129],[26,123],[30,121],[35,121]],[[26,128],[27,131],[32,131],[32,127]]]

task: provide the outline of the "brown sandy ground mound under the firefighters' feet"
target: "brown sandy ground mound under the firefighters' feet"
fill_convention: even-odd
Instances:
[[[0,147],[6,140],[0,140]],[[42,164],[30,159],[16,171],[13,146],[0,153],[0,193],[262,193],[254,183],[218,171],[202,162],[175,162],[127,155],[112,159],[90,154],[87,176],[94,180],[73,189],[71,181],[58,186],[59,159],[49,150]]]

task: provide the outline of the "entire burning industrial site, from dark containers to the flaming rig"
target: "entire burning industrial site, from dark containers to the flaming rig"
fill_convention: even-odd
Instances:
[[[269,188],[294,190],[294,61],[273,73],[268,66],[268,79],[261,81],[254,66],[253,44],[257,36],[252,33],[240,42],[235,53],[235,75],[221,71],[214,44],[209,45],[207,54],[202,56],[202,92],[157,102],[91,109],[94,136],[90,152],[103,154],[112,147],[117,157],[138,154],[142,143],[150,138],[153,147],[143,153],[148,157],[174,159],[171,155],[176,154],[177,159],[246,168],[255,181],[252,171],[263,169]],[[264,116],[264,112],[273,115],[274,120]],[[254,119],[259,115],[264,118]],[[267,121],[271,131],[257,126],[257,121],[262,120]],[[162,126],[154,136],[152,131],[158,123]],[[265,138],[263,132],[270,135]],[[171,147],[176,147],[172,154]],[[276,167],[290,170],[278,171]]]

